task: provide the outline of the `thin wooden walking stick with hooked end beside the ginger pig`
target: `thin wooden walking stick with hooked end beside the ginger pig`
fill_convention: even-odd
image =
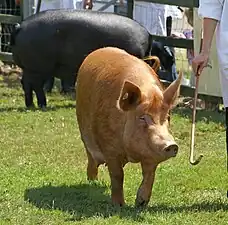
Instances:
[[[197,95],[198,95],[198,86],[199,86],[199,75],[196,74],[196,87],[195,87],[194,104],[193,104],[193,112],[192,112],[191,147],[190,147],[190,157],[189,157],[189,161],[192,165],[197,165],[203,158],[203,155],[201,154],[196,160],[194,160],[195,120],[196,120],[196,102],[197,102]]]

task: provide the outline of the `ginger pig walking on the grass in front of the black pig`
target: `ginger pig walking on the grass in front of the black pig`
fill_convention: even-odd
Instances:
[[[158,164],[176,156],[178,145],[169,132],[168,112],[178,97],[181,77],[163,90],[145,62],[112,47],[94,51],[82,63],[76,115],[88,156],[87,177],[97,179],[98,166],[106,163],[113,203],[125,204],[126,163],[141,163],[143,180],[136,205],[145,206]]]

